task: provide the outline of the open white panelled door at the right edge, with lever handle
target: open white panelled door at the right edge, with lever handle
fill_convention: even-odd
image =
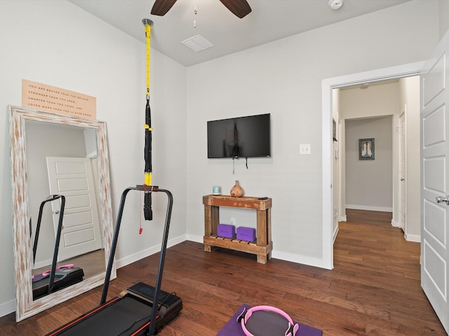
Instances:
[[[449,332],[449,34],[421,75],[421,286]],[[437,197],[441,197],[439,202]],[[448,202],[441,202],[448,200]]]

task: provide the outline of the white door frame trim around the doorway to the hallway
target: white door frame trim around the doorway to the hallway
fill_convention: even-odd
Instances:
[[[421,73],[424,62],[415,62],[391,66],[383,69],[353,73],[334,78],[326,78],[321,82],[321,125],[323,162],[322,202],[323,204],[323,267],[333,269],[333,153],[332,153],[332,90],[338,87],[377,82],[394,78],[417,76]]]

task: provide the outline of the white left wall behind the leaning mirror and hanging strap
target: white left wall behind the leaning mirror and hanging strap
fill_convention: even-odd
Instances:
[[[142,22],[130,22],[142,27]],[[145,31],[142,27],[142,34]],[[107,122],[114,218],[124,188],[144,180],[145,43],[68,1],[0,1],[0,316],[15,310],[8,104],[20,106],[22,78],[97,99]],[[186,72],[152,50],[153,183],[173,193],[170,241],[185,239]],[[117,248],[118,265],[161,244],[166,197],[153,196],[154,221],[140,225],[138,193],[128,195]]]

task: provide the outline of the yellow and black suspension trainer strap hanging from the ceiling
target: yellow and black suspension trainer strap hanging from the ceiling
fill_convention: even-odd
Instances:
[[[152,115],[149,109],[149,56],[150,56],[150,34],[153,22],[149,19],[142,20],[145,26],[147,38],[147,104],[145,106],[145,186],[152,186]],[[152,193],[145,193],[144,216],[146,221],[153,219]]]

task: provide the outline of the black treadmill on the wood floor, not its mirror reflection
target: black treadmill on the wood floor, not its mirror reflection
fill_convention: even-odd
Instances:
[[[163,230],[161,255],[156,276],[156,287],[146,283],[136,283],[123,290],[118,296],[106,302],[109,279],[112,272],[117,239],[123,215],[126,195],[130,190],[145,193],[166,193],[168,206],[166,222]],[[135,186],[126,188],[121,195],[119,214],[117,216],[114,237],[112,239],[111,253],[106,269],[105,283],[103,285],[100,306],[75,318],[73,321],[47,334],[47,336],[137,336],[155,335],[164,325],[170,322],[182,309],[182,300],[175,293],[161,290],[163,264],[165,261],[168,229],[173,207],[173,196],[168,190],[157,186]]]

